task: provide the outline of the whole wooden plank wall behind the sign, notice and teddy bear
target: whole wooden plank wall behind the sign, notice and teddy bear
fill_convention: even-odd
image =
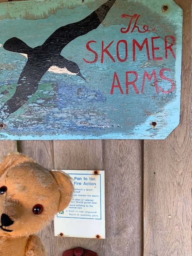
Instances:
[[[191,0],[175,1],[184,10],[181,122],[166,140],[0,141],[0,156],[18,150],[49,169],[106,171],[106,239],[54,237],[51,223],[40,234],[49,256],[76,246],[191,255]]]

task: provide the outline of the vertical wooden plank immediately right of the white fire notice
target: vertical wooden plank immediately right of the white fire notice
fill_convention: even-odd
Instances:
[[[142,141],[103,141],[106,177],[105,253],[99,256],[141,256]]]

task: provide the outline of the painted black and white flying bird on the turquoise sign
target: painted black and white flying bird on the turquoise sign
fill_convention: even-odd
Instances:
[[[16,37],[4,43],[5,50],[19,52],[28,58],[20,74],[14,95],[4,105],[4,114],[10,115],[28,101],[28,96],[37,91],[38,84],[46,71],[68,73],[85,80],[78,65],[67,60],[60,53],[78,36],[83,36],[98,28],[115,2],[116,0],[108,0],[83,20],[58,28],[44,44],[35,48],[29,47]]]

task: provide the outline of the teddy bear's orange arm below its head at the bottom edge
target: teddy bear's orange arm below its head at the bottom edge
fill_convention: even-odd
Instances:
[[[30,236],[24,256],[47,256],[44,246],[38,236]]]

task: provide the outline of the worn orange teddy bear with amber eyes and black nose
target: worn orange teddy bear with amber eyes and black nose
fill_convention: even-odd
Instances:
[[[0,255],[46,256],[35,234],[73,195],[70,177],[49,171],[28,156],[11,153],[0,163]]]

